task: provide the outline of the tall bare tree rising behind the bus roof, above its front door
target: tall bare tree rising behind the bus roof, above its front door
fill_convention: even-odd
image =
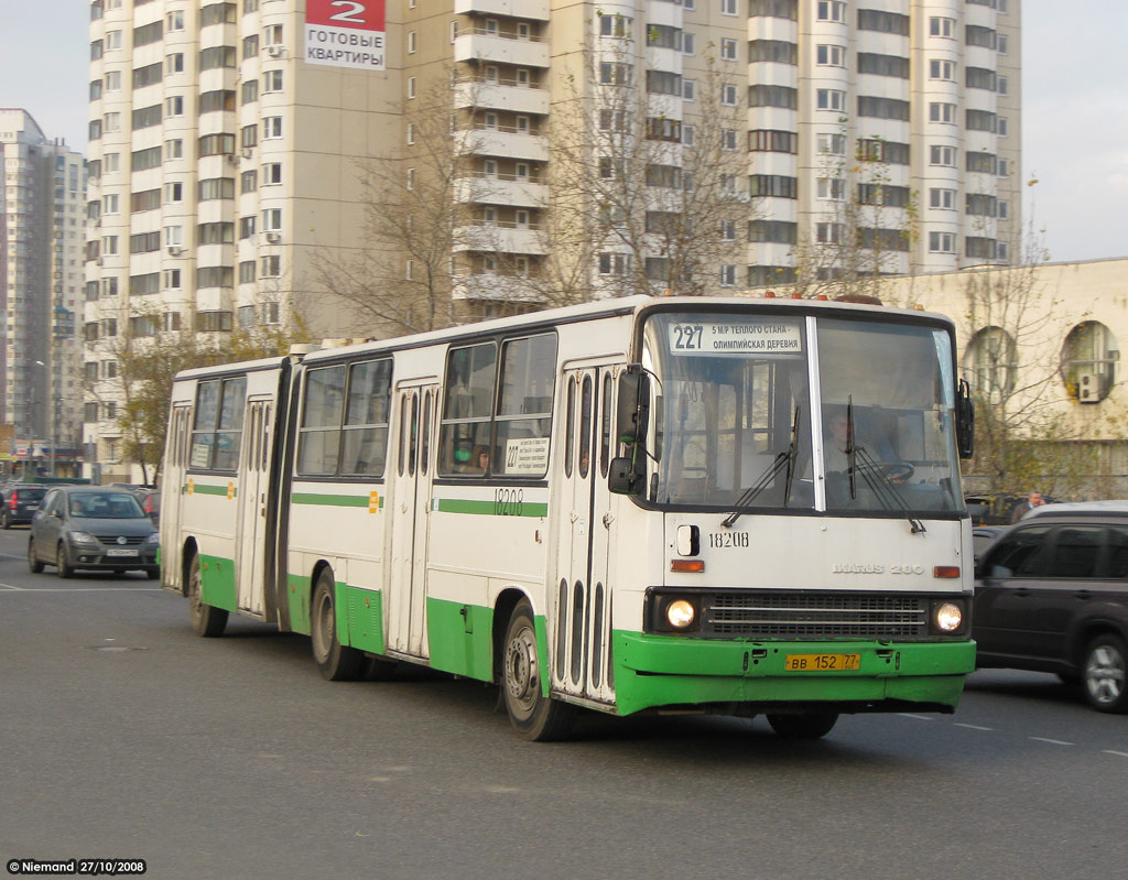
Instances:
[[[647,28],[649,44],[664,37]],[[678,118],[681,77],[650,70],[640,81],[644,47],[629,32],[610,46],[585,53],[553,111],[538,293],[563,303],[731,287],[749,215],[742,90],[707,58],[696,113]]]

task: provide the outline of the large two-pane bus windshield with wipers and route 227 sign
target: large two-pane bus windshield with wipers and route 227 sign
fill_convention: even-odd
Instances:
[[[726,511],[960,510],[948,333],[835,318],[814,326],[812,344],[797,315],[646,319],[653,501]]]

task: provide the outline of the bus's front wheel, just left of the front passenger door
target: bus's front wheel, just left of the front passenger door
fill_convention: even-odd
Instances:
[[[575,721],[575,706],[546,697],[540,692],[540,659],[532,606],[518,602],[505,631],[502,658],[502,694],[505,711],[517,732],[538,742],[567,739]]]

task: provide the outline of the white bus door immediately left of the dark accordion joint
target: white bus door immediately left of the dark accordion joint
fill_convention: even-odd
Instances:
[[[249,401],[239,456],[238,607],[240,611],[263,614],[265,580],[263,571],[266,536],[266,484],[270,469],[271,401]]]

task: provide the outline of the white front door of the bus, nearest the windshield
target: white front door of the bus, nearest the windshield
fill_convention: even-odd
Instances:
[[[614,698],[610,669],[607,466],[614,381],[610,366],[565,370],[563,456],[557,459],[557,553],[549,642],[553,683],[569,694]]]

